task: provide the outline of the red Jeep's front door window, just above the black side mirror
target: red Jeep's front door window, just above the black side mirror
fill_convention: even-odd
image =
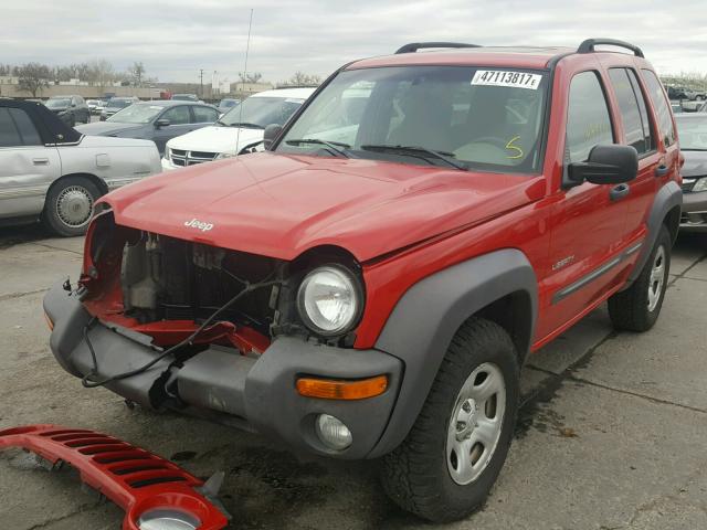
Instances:
[[[606,97],[595,72],[572,78],[566,135],[568,162],[585,162],[595,146],[614,142]]]

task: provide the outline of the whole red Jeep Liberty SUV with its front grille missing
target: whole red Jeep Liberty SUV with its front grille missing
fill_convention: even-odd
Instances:
[[[264,152],[103,198],[78,286],[44,299],[61,367],[381,458],[384,490],[430,520],[482,506],[528,353],[605,301],[618,329],[658,318],[680,156],[632,44],[428,47],[347,64]],[[349,92],[365,105],[342,126]]]

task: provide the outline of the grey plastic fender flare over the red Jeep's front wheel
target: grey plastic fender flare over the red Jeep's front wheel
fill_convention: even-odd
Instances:
[[[514,326],[523,362],[538,312],[538,280],[523,252],[507,248],[468,259],[420,280],[403,295],[376,348],[401,359],[404,377],[388,427],[369,458],[389,453],[405,438],[460,326],[511,294],[521,295],[527,311]]]

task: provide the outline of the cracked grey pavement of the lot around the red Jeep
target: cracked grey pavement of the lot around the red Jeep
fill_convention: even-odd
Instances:
[[[0,428],[87,427],[175,459],[197,476],[226,473],[231,528],[437,528],[384,497],[376,463],[295,455],[201,420],[129,410],[85,390],[53,360],[43,293],[75,278],[81,239],[0,230]],[[707,528],[707,237],[680,236],[663,312],[647,333],[615,332],[600,308],[530,358],[516,439],[486,505],[450,529]],[[118,529],[122,511],[0,454],[0,524],[15,530]]]

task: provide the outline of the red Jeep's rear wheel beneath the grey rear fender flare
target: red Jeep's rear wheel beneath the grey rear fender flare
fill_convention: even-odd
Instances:
[[[641,274],[626,290],[609,298],[609,316],[614,328],[647,331],[661,314],[671,272],[671,234],[663,225]]]

